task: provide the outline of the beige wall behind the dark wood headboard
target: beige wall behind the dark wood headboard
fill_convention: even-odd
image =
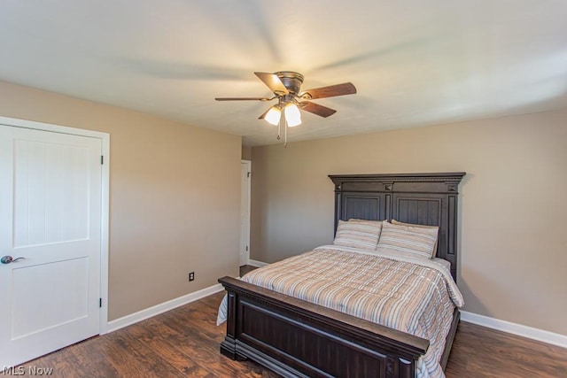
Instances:
[[[545,112],[252,148],[252,258],[332,242],[328,174],[465,171],[464,310],[567,335],[566,125]]]

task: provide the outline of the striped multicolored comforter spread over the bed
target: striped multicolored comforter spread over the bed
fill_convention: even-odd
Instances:
[[[444,376],[439,359],[454,306],[463,301],[447,268],[434,260],[329,245],[253,270],[242,280],[426,338],[430,347],[416,374]]]

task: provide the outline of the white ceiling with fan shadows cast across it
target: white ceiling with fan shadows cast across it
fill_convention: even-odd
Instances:
[[[2,0],[0,80],[277,143],[255,71],[314,100],[290,142],[567,107],[566,0]]]

